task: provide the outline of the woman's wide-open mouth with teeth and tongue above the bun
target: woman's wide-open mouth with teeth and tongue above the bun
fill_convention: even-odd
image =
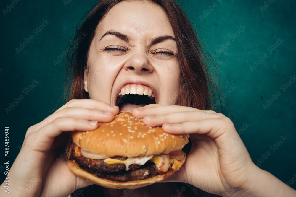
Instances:
[[[131,111],[133,108],[143,107],[155,103],[152,90],[141,84],[127,84],[119,92],[116,106],[120,111]]]

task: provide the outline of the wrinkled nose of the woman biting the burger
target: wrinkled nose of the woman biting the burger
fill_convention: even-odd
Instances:
[[[153,71],[153,67],[149,64],[148,57],[143,53],[131,54],[124,65],[126,71],[134,71],[136,74],[145,74]]]

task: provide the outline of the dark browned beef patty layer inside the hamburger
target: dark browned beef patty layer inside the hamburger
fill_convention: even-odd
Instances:
[[[100,178],[106,178],[114,181],[132,181],[143,180],[156,176],[158,169],[152,162],[146,162],[144,165],[131,164],[129,170],[126,170],[125,164],[107,164],[104,159],[89,159],[80,155],[75,157],[74,147],[72,155],[75,162],[84,170]],[[123,160],[124,157],[112,157],[113,159]]]

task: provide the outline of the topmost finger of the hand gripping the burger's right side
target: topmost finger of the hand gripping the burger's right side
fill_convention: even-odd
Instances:
[[[144,116],[155,116],[155,115],[165,115],[168,113],[174,112],[184,112],[184,111],[198,111],[199,109],[184,107],[178,105],[160,105],[155,107],[142,107],[135,108],[132,111],[132,114],[136,118],[144,118]]]

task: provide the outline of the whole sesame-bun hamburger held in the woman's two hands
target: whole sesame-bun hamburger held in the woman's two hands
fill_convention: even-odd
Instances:
[[[73,131],[69,169],[106,188],[139,188],[164,180],[185,162],[189,135],[165,133],[120,112],[94,131]]]

